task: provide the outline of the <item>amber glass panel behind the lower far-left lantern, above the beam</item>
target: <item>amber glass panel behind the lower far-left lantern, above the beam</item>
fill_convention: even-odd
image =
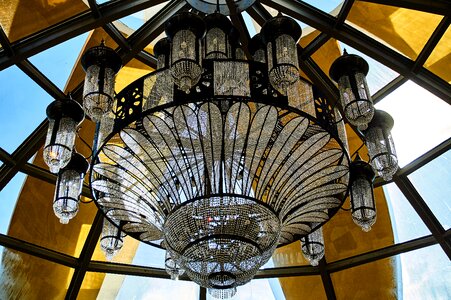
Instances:
[[[42,152],[36,156],[42,165]],[[28,176],[11,217],[8,235],[58,252],[80,255],[97,208],[94,203],[80,204],[69,224],[63,225],[53,212],[55,186]]]

